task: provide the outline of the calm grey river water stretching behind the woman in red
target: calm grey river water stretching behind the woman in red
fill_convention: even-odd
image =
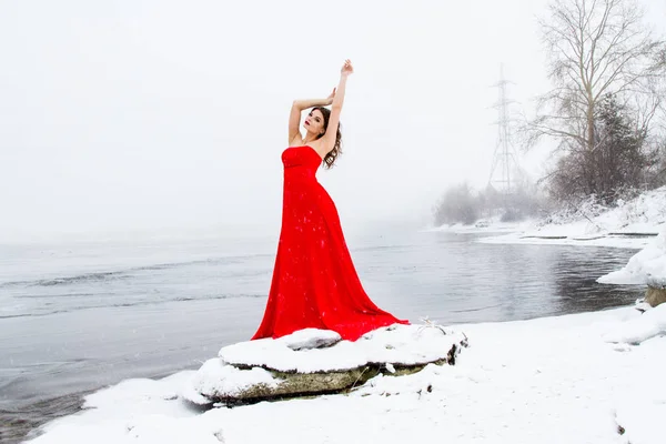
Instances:
[[[635,251],[478,238],[375,232],[349,244],[373,301],[412,322],[525,320],[642,296],[595,282]],[[0,441],[74,412],[90,391],[196,369],[248,340],[275,246],[259,238],[0,245]]]

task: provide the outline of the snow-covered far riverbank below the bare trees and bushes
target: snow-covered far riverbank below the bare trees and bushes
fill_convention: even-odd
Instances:
[[[482,223],[482,226],[444,226],[435,231],[456,233],[508,232],[481,239],[485,243],[565,244],[643,249],[666,226],[666,186],[647,191],[616,208],[606,209],[592,202],[582,204],[576,213],[558,213],[547,221],[522,223]],[[432,230],[431,230],[432,231]]]

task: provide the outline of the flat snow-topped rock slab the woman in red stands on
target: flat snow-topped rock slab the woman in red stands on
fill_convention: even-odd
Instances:
[[[467,346],[464,334],[432,324],[394,325],[327,346],[337,333],[309,330],[223,347],[194,374],[182,396],[201,405],[238,405],[345,393],[379,374],[400,376],[431,363],[454,365]]]

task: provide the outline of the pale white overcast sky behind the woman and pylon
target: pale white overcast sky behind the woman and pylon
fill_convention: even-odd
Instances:
[[[666,30],[666,2],[645,0]],[[544,0],[0,1],[0,240],[279,230],[292,100],[344,59],[344,154],[319,178],[343,224],[428,219],[487,182],[500,64],[547,89]],[[538,153],[523,159],[534,174]]]

